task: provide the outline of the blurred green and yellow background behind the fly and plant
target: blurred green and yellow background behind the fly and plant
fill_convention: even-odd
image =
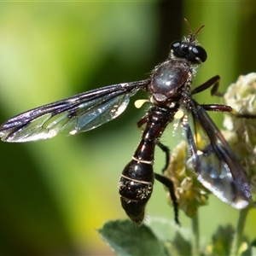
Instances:
[[[30,108],[109,84],[147,79],[173,40],[205,24],[199,40],[208,60],[195,84],[256,71],[256,3],[213,1],[0,3],[1,122]],[[111,254],[96,229],[126,218],[119,204],[120,173],[141,133],[145,109],[130,106],[118,119],[73,137],[0,143],[0,254]],[[199,102],[216,103],[209,91]],[[221,125],[222,114],[213,114]],[[174,146],[172,132],[162,142]],[[155,155],[155,171],[164,158]],[[148,216],[173,219],[166,192],[155,183]],[[181,223],[189,219],[181,212]],[[200,211],[201,236],[236,224],[237,211],[213,196]],[[255,211],[246,233],[255,236]]]

